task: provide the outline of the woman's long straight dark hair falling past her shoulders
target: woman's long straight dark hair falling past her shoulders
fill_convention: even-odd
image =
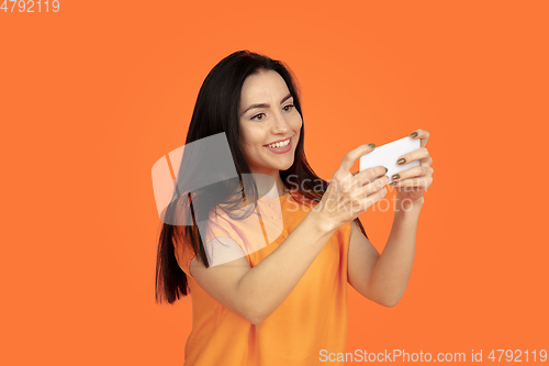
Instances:
[[[199,222],[204,222],[210,211],[219,203],[223,202],[235,207],[238,199],[232,201],[231,197],[242,197],[242,195],[236,193],[242,193],[243,187],[251,187],[251,190],[246,190],[248,195],[248,197],[245,197],[246,200],[249,199],[255,202],[257,199],[257,188],[254,181],[249,180],[251,170],[240,149],[238,137],[242,87],[244,80],[249,75],[260,70],[274,70],[284,79],[290,93],[293,96],[294,108],[299,111],[303,120],[299,82],[291,69],[283,62],[244,49],[228,55],[212,68],[200,88],[186,145],[214,134],[225,133],[238,179],[229,179],[221,184],[210,185],[209,187],[183,195],[179,191],[175,192],[171,203],[165,211],[165,223],[163,224],[158,243],[155,280],[155,297],[157,302],[161,302],[163,298],[166,298],[169,303],[173,303],[181,296],[187,296],[190,291],[187,275],[176,259],[175,243],[184,242],[187,245],[190,245],[193,253],[197,253],[204,266],[206,268],[210,267],[204,251],[204,243],[202,243],[199,231]],[[304,140],[305,123],[303,122],[300,140],[295,148],[294,163],[289,169],[280,170],[280,177],[284,186],[296,186],[296,190],[292,191],[292,197],[299,197],[301,202],[309,204],[307,200],[310,202],[318,202],[322,199],[328,187],[328,182],[320,178],[309,165],[305,157]],[[200,181],[202,170],[197,164],[190,164],[190,159],[186,158],[183,154],[178,179]],[[294,177],[296,181],[290,181],[290,177]],[[293,195],[293,192],[296,195]],[[197,204],[199,201],[200,204]],[[181,212],[191,213],[192,220],[189,219],[187,221],[188,223],[192,223],[191,225],[172,224],[177,221],[176,218]],[[355,222],[360,228],[362,234],[368,237],[360,220],[357,218]]]

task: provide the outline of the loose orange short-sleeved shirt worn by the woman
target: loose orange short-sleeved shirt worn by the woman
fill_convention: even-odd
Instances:
[[[280,203],[283,229],[274,242],[250,251],[253,243],[243,232],[246,223],[235,224],[223,215],[209,222],[212,231],[205,234],[206,242],[221,236],[233,239],[254,267],[274,251],[310,211],[290,193],[272,200],[264,197],[259,201],[267,203],[267,208]],[[270,214],[267,211],[260,212]],[[280,219],[276,215],[272,214]],[[258,217],[255,218],[257,221]],[[254,214],[250,220],[254,220]],[[337,229],[290,296],[259,325],[231,312],[208,295],[190,274],[189,266],[194,256],[192,248],[177,245],[176,257],[187,275],[192,298],[192,331],[184,348],[184,365],[324,365],[321,351],[325,350],[323,354],[345,353],[349,236],[350,223]],[[329,364],[343,365],[343,362]]]

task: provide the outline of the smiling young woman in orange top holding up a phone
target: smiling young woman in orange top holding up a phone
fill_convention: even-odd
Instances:
[[[176,196],[166,210],[168,219],[192,215],[189,225],[164,224],[156,268],[157,301],[192,295],[184,365],[317,365],[345,353],[347,282],[385,307],[403,296],[423,195],[433,182],[428,132],[416,130],[412,137],[422,147],[402,156],[402,164],[421,165],[394,178],[395,217],[381,255],[358,215],[385,197],[386,169],[349,171],[373,144],[350,151],[328,185],[307,164],[304,132],[296,80],[282,62],[235,52],[205,78],[186,144],[224,133],[238,178]],[[201,181],[206,169],[193,158],[183,154],[179,179]],[[254,175],[272,178],[274,197]],[[267,228],[269,214],[282,233],[258,245],[265,237],[246,222]],[[210,263],[224,255],[232,259]]]

